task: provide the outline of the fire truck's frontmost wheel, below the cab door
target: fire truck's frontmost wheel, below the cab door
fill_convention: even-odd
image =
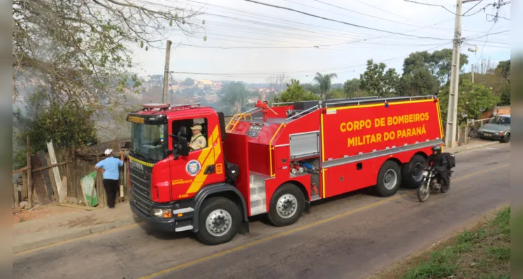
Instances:
[[[237,204],[225,197],[211,197],[201,206],[196,237],[211,246],[227,243],[236,236],[241,221]]]

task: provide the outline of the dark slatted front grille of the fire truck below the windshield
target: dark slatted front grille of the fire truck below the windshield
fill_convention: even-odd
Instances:
[[[131,202],[146,215],[151,212],[151,174],[152,167],[143,165],[143,170],[129,169],[131,176]]]

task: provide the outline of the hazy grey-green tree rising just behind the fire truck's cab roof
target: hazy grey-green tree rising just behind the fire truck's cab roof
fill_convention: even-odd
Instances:
[[[229,82],[220,90],[220,110],[224,114],[236,114],[240,112],[249,92],[242,82]]]

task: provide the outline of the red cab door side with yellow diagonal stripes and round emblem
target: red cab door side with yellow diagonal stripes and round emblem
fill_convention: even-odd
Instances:
[[[190,127],[199,124],[201,134],[206,139],[206,146],[202,149],[189,151],[188,156],[180,156],[177,160],[171,156],[171,195],[173,199],[192,197],[201,187],[208,184],[224,181],[224,165],[222,140],[217,116],[204,115],[192,119],[172,121],[173,134],[177,134],[180,127],[185,126],[189,133]],[[186,135],[190,142],[192,135]]]

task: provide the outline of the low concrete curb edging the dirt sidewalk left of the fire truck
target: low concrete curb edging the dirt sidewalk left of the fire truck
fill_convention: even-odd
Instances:
[[[134,216],[131,216],[129,218],[126,218],[123,220],[117,220],[117,221],[114,221],[111,223],[94,225],[92,227],[86,227],[83,229],[76,229],[73,232],[65,232],[64,234],[60,234],[59,236],[52,236],[48,239],[39,239],[37,241],[33,241],[30,243],[23,243],[18,246],[13,246],[13,254],[18,253],[18,252],[23,252],[25,250],[40,248],[42,246],[51,245],[51,244],[58,243],[61,241],[76,239],[78,237],[86,236],[89,234],[96,234],[99,232],[104,232],[109,229],[115,229],[117,227],[124,227],[124,226],[131,225],[134,223],[136,223],[136,220],[134,219]]]

